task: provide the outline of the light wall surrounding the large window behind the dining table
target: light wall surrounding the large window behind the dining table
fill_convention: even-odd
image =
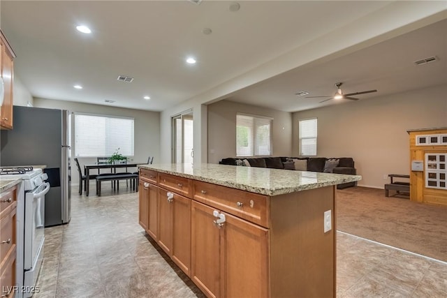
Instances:
[[[46,107],[70,112],[85,112],[91,114],[104,114],[112,116],[133,117],[135,119],[135,155],[133,161],[143,163],[148,156],[154,156],[154,163],[160,158],[160,112],[124,109],[122,107],[108,107],[104,105],[89,105],[87,103],[74,103],[66,100],[50,100],[34,98],[34,107]],[[72,129],[72,145],[74,147],[74,125]],[[75,157],[75,148],[72,158]],[[80,165],[94,163],[96,158],[79,158]],[[73,161],[72,161],[73,163]],[[136,170],[136,169],[132,169]],[[72,184],[78,184],[78,171],[72,167]]]

